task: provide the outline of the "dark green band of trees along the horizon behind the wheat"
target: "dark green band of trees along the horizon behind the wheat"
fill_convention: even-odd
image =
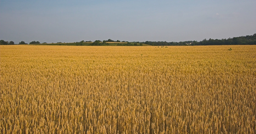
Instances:
[[[117,44],[107,43],[107,42],[115,42]],[[57,42],[61,43],[61,42]],[[88,43],[85,45],[84,43]],[[24,41],[21,41],[19,45],[27,44]],[[32,41],[29,44],[40,44],[39,41]],[[46,42],[42,43],[44,45],[56,45],[55,43],[47,44]],[[128,41],[119,41],[119,40],[95,40],[91,41],[80,41],[74,43],[66,43],[63,45],[76,45],[76,46],[142,46],[142,44],[151,45],[151,46],[207,46],[207,45],[256,45],[256,33],[254,35],[233,37],[228,39],[209,39],[202,41],[180,41],[180,42],[166,42],[166,41],[145,41],[145,42],[128,42]],[[0,45],[15,45],[13,41],[4,41],[0,40]],[[61,44],[59,44],[61,45]]]

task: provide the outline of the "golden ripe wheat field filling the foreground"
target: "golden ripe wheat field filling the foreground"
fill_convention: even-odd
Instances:
[[[0,58],[0,133],[256,134],[255,45],[16,45]]]

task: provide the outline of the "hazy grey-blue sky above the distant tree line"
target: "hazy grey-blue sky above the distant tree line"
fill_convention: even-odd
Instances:
[[[256,33],[255,0],[1,0],[0,40],[222,39]]]

